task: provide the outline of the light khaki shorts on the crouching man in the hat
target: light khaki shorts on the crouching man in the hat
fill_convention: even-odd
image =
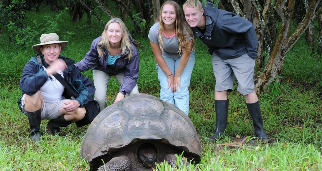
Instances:
[[[24,95],[25,96],[25,95]],[[26,113],[26,111],[24,110],[25,108],[25,104],[24,104],[24,96],[21,98],[21,108],[24,111],[24,113]],[[64,106],[64,102],[70,101],[71,99],[66,99],[63,97],[63,99],[59,102],[55,102],[55,103],[45,103],[43,101],[43,106],[42,106],[42,111],[41,111],[41,119],[56,119],[59,116],[61,116],[58,113],[58,110]]]

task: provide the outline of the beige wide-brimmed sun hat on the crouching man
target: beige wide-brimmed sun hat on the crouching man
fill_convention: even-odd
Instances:
[[[42,34],[40,36],[40,42],[37,45],[33,45],[33,50],[38,54],[42,54],[40,47],[43,45],[60,43],[62,49],[64,49],[68,43],[68,41],[59,41],[59,36],[56,33]]]

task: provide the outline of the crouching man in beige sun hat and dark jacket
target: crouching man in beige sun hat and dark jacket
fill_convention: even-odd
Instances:
[[[41,138],[42,119],[50,119],[47,128],[52,133],[81,121],[86,113],[84,105],[93,100],[95,92],[93,82],[80,73],[74,61],[60,56],[68,41],[59,41],[56,33],[42,34],[40,41],[33,46],[36,57],[24,66],[20,79],[23,95],[18,100],[19,108],[28,117],[33,141]],[[79,93],[77,98],[64,93],[64,86],[53,76],[57,73]]]

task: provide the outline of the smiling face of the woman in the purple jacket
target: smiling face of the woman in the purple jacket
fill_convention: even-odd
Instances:
[[[110,45],[119,45],[123,37],[121,26],[117,22],[109,24],[109,27],[106,29],[106,34],[109,38]]]

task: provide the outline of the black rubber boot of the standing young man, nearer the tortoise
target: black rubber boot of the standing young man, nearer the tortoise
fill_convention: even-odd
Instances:
[[[209,138],[210,141],[215,141],[224,133],[227,126],[229,100],[215,100],[216,110],[216,133]]]

